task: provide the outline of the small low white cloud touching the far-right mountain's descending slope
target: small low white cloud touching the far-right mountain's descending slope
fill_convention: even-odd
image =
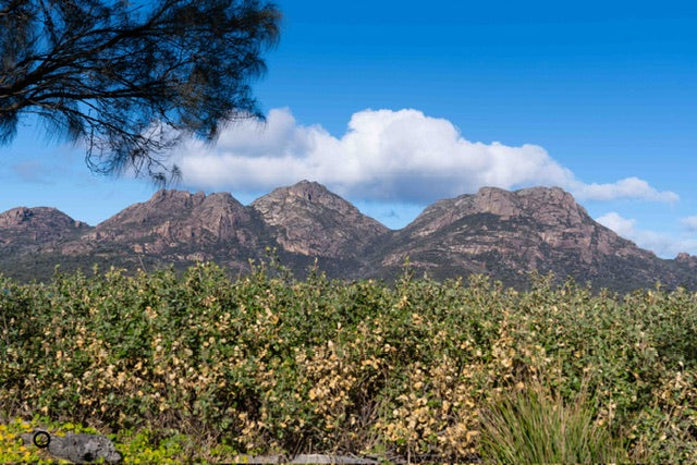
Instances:
[[[656,253],[659,257],[674,258],[681,252],[687,252],[692,255],[697,254],[697,240],[695,237],[676,237],[668,233],[637,229],[636,220],[623,218],[614,211],[596,218],[596,221],[622,237],[633,241],[639,247]]]

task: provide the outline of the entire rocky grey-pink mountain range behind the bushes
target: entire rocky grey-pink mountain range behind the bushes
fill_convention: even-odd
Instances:
[[[391,280],[408,260],[435,279],[485,273],[525,286],[536,270],[620,292],[656,282],[697,289],[697,257],[659,258],[557,187],[482,187],[435,203],[401,230],[308,181],[248,206],[228,193],[161,189],[96,227],[47,207],[0,213],[0,272],[22,281],[50,279],[59,264],[152,270],[211,260],[245,273],[270,249],[301,276],[317,262],[332,278]]]

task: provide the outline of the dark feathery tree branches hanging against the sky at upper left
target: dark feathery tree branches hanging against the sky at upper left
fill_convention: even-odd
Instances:
[[[0,144],[34,113],[94,171],[162,181],[182,137],[262,118],[250,82],[279,22],[257,0],[0,0]]]

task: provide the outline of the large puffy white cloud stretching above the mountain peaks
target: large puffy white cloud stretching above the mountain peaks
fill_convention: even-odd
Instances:
[[[452,122],[417,110],[360,111],[334,137],[274,109],[265,124],[230,126],[216,146],[187,144],[176,162],[186,184],[207,189],[266,192],[307,179],[352,199],[418,204],[481,186],[533,185],[560,186],[579,199],[677,199],[637,178],[585,184],[540,146],[469,142]]]

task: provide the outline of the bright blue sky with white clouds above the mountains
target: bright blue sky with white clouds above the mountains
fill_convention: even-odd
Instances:
[[[180,147],[179,188],[249,203],[309,179],[401,228],[482,185],[560,185],[638,245],[697,255],[697,4],[277,3],[266,126]],[[0,211],[96,224],[155,191],[93,175],[30,121],[0,156]]]

